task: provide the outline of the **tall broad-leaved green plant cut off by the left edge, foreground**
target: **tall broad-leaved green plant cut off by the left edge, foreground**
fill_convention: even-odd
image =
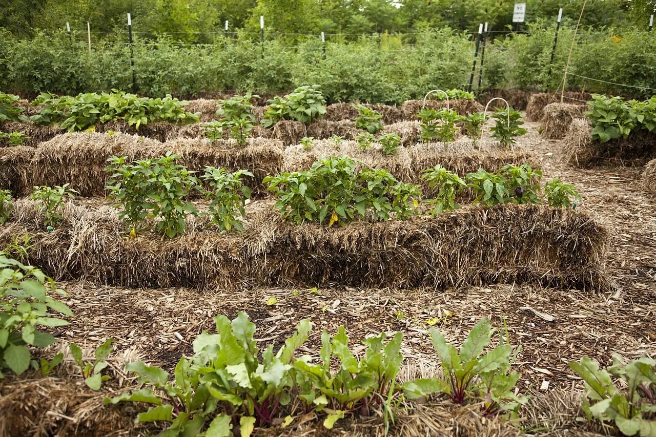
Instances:
[[[73,316],[64,303],[49,293],[62,293],[51,278],[41,270],[25,266],[0,254],[0,378],[2,370],[10,369],[16,375],[30,367],[38,368],[31,360],[29,346],[43,348],[56,340],[39,327],[68,325],[59,314]]]

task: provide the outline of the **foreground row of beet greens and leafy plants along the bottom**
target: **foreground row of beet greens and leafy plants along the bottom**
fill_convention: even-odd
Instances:
[[[72,316],[72,312],[51,297],[60,290],[41,271],[1,255],[0,266],[6,278],[0,285],[0,318],[7,321],[0,330],[0,377],[5,376],[3,371],[22,375],[30,367],[44,379],[56,375],[64,365],[63,353],[37,361],[32,352],[55,343],[43,327],[67,325],[62,316]],[[9,299],[12,304],[5,304]],[[332,335],[324,329],[320,350],[313,350],[306,343],[314,326],[310,320],[301,320],[274,352],[274,344],[258,346],[257,327],[244,312],[232,321],[217,316],[214,322],[216,333],[203,331],[195,338],[193,353],[180,358],[173,379],[165,369],[144,362],[125,365],[125,371],[138,378],[138,385],[105,398],[106,407],[94,415],[102,417],[106,409],[119,409],[130,417],[136,415],[136,423],[150,424],[144,427],[150,432],[166,428],[169,434],[230,436],[230,430],[239,427],[239,434],[246,437],[255,428],[293,430],[295,419],[302,415],[300,420],[307,420],[308,413],[323,419],[328,429],[341,419],[379,415],[387,432],[401,412],[399,406],[412,410],[413,400],[418,399],[449,400],[484,417],[508,419],[518,418],[522,406],[532,402],[520,394],[520,373],[513,369],[521,348],[510,344],[507,330],[494,329],[485,318],[474,325],[459,350],[430,327],[442,372],[419,378],[401,377],[405,357],[400,332],[374,333],[361,339],[360,346],[352,344],[343,326]],[[114,375],[107,360],[112,343],[107,339],[98,346],[91,360],[85,359],[77,345],[69,346],[77,371],[91,390],[101,390]],[[301,350],[306,353],[301,355]],[[437,367],[437,360],[435,364],[431,367]],[[614,356],[613,365],[604,369],[583,357],[569,362],[569,367],[584,381],[582,409],[588,420],[613,423],[627,435],[651,436],[656,406],[654,360],[627,363]],[[12,399],[5,396],[3,411],[20,408],[22,412],[3,415],[1,423],[9,432],[24,434],[30,427],[24,419],[40,408],[19,407]],[[124,403],[133,407],[121,408]]]

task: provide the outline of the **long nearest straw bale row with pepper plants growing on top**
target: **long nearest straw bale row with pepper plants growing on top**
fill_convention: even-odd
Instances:
[[[540,283],[604,288],[608,232],[585,213],[537,205],[463,207],[436,218],[294,226],[264,209],[243,234],[190,218],[176,239],[125,238],[109,207],[68,203],[44,233],[29,200],[15,203],[0,244],[30,235],[29,262],[56,280],[126,287],[462,287]]]

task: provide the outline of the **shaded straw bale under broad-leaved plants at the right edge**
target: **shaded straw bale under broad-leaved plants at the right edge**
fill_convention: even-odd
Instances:
[[[656,133],[638,131],[628,138],[604,142],[592,140],[592,125],[587,118],[575,119],[562,146],[564,162],[576,167],[594,165],[645,165],[656,157]]]

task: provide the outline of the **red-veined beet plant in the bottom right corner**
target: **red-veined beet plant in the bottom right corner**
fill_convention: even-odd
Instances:
[[[615,354],[607,369],[588,357],[569,362],[569,367],[583,378],[583,411],[588,420],[614,422],[627,436],[656,435],[656,361],[644,357],[627,364]],[[621,380],[623,388],[611,376]]]

